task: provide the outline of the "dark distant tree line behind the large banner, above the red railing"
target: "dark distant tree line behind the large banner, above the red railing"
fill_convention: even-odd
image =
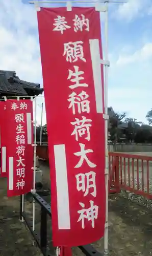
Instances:
[[[146,115],[148,124],[126,116],[126,113],[114,113],[109,118],[108,132],[112,143],[152,143],[152,109]],[[37,126],[36,140],[40,141],[41,127]],[[42,127],[42,142],[47,142],[46,125]]]

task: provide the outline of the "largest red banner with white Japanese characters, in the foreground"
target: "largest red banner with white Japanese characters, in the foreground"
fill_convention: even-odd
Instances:
[[[104,79],[99,12],[41,8],[53,242],[92,243],[105,228]]]

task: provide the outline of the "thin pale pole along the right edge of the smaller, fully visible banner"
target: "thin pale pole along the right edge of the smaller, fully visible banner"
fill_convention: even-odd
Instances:
[[[36,95],[35,95],[35,118],[34,118],[34,168],[33,168],[33,193],[35,193],[36,178]],[[33,231],[35,230],[35,199],[33,198]]]

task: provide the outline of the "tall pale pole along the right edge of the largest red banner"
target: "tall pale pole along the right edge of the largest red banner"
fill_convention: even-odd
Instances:
[[[108,60],[108,2],[105,2],[105,60]],[[105,65],[105,115],[108,115],[108,65]],[[104,256],[108,256],[108,119],[105,120],[105,186],[106,186],[106,221],[104,237]]]

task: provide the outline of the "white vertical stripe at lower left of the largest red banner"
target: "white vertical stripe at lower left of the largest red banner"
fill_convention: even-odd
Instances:
[[[69,193],[65,145],[54,145],[54,153],[56,166],[58,228],[70,229]]]

